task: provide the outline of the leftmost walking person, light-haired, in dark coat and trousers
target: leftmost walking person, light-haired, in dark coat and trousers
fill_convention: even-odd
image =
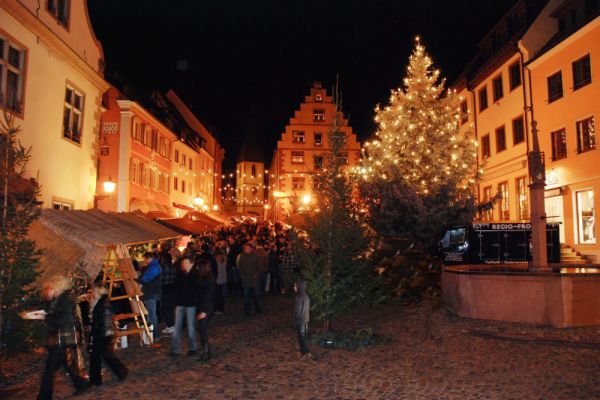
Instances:
[[[48,313],[46,314],[48,359],[38,400],[52,399],[54,393],[54,376],[62,367],[64,368],[75,386],[76,394],[81,394],[89,389],[89,383],[73,369],[68,360],[67,350],[77,346],[74,308],[75,302],[69,291],[70,282],[66,277],[56,277],[44,288],[44,297],[49,301]]]

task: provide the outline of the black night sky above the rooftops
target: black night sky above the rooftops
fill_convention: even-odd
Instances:
[[[216,128],[226,170],[252,125],[267,163],[313,81],[340,74],[360,140],[402,82],[415,35],[449,82],[516,0],[90,0],[108,66],[173,88]],[[250,121],[252,123],[250,124]]]

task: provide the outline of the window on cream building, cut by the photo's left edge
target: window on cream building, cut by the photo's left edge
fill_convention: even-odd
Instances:
[[[0,104],[6,109],[23,111],[25,51],[0,36]]]

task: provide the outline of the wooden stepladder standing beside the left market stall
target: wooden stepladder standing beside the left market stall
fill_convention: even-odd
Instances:
[[[137,272],[133,268],[129,251],[123,244],[111,246],[107,253],[104,265],[102,266],[102,284],[108,284],[108,296],[111,301],[129,300],[131,312],[125,314],[116,314],[113,316],[115,327],[118,328],[117,322],[125,319],[133,319],[135,326],[127,326],[127,329],[115,329],[115,336],[129,336],[137,334],[140,338],[140,343],[144,344],[143,333],[146,333],[149,343],[152,343],[153,338],[148,327],[146,315],[148,311],[142,302],[142,290],[137,283]],[[122,285],[125,289],[125,294],[113,294],[115,284]],[[158,329],[158,327],[154,327]]]

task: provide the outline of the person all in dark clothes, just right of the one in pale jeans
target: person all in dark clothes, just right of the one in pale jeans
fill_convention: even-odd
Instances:
[[[200,332],[201,361],[210,360],[210,347],[208,345],[208,322],[215,310],[215,277],[212,266],[204,258],[199,258],[194,268],[200,277],[200,290],[196,305],[196,318],[198,319],[198,330]]]

